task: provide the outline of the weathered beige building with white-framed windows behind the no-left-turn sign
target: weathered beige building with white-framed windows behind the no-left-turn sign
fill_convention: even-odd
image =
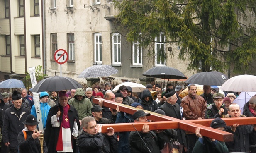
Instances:
[[[48,0],[45,8],[46,74],[49,76],[60,73],[60,65],[53,57],[57,49],[68,52],[68,61],[61,65],[61,72],[73,79],[96,63],[115,67],[119,71],[113,75],[115,80],[139,80],[147,69],[164,65],[175,67],[187,76],[195,73],[186,70],[188,63],[178,60],[179,46],[152,44],[150,47],[164,47],[166,52],[174,55],[167,61],[157,61],[156,56],[149,56],[146,49],[138,47],[138,43],[127,42],[113,23],[118,10],[110,0]],[[164,36],[158,39],[161,38]]]

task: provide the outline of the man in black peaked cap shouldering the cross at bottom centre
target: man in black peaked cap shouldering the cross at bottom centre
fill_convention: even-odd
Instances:
[[[138,110],[132,115],[135,123],[144,122],[145,124],[141,131],[132,131],[129,135],[131,153],[160,153],[160,150],[163,149],[163,130],[157,130],[156,132],[150,131],[149,125],[146,124],[146,122],[148,122],[148,116],[150,116],[150,114],[145,113],[143,110]],[[144,141],[142,141],[141,138],[143,138]]]

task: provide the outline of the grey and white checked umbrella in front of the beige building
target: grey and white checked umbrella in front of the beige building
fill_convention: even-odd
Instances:
[[[93,65],[83,70],[78,78],[108,77],[117,72],[118,70],[110,65]]]

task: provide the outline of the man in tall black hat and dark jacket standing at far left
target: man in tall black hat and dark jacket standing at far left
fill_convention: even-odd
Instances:
[[[24,129],[23,121],[30,114],[27,108],[22,106],[22,97],[20,92],[13,91],[13,105],[5,110],[4,126],[2,129],[2,139],[5,146],[10,148],[11,153],[18,153],[17,137],[20,131]]]

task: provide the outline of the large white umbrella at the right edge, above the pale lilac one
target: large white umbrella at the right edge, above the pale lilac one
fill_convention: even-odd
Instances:
[[[234,92],[253,92],[256,91],[256,76],[238,75],[228,79],[222,86],[221,90]]]

